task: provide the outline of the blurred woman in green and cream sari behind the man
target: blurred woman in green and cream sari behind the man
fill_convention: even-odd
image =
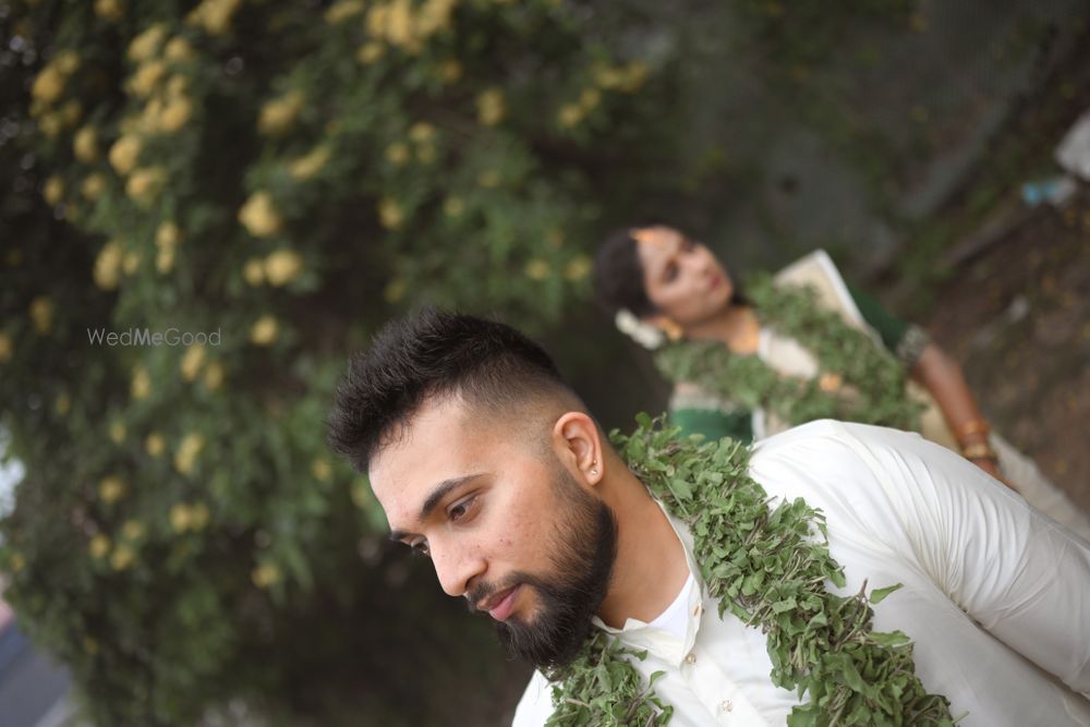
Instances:
[[[707,247],[649,226],[606,241],[594,281],[618,327],[657,349],[685,431],[752,440],[822,417],[916,429],[1090,537],[1090,520],[990,431],[958,364],[823,252],[742,295]]]

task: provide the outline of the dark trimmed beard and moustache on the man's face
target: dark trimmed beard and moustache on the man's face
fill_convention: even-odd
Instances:
[[[617,520],[602,500],[579,486],[557,463],[554,487],[568,507],[557,522],[549,560],[555,575],[516,572],[507,585],[482,584],[468,594],[470,608],[486,595],[521,584],[537,592],[541,602],[531,622],[517,616],[496,623],[508,650],[543,670],[571,664],[591,632],[591,618],[609,590],[617,558]]]

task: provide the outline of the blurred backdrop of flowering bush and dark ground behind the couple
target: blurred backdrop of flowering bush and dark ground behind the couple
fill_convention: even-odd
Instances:
[[[1082,0],[0,0],[0,724],[509,724],[529,669],[387,544],[325,417],[423,303],[540,337],[606,427],[661,411],[590,295],[633,221],[742,274],[825,247],[1090,508],[1088,28]]]

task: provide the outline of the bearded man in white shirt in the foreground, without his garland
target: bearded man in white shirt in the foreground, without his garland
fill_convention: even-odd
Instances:
[[[352,360],[330,441],[370,474],[391,537],[429,556],[448,594],[486,611],[562,687],[573,677],[557,669],[585,667],[589,638],[605,631],[646,652],[621,658],[640,693],[673,708],[671,725],[782,725],[808,703],[770,678],[771,637],[730,610],[720,618],[708,564],[693,557],[693,532],[708,530],[701,508],[668,514],[513,329],[436,311],[388,326]],[[892,429],[808,424],[756,445],[748,473],[770,497],[824,513],[845,582],[818,583],[822,594],[903,584],[874,605],[873,629],[913,640],[916,677],[952,715],[968,713],[961,724],[1090,725],[1086,541],[964,459]],[[821,545],[811,533],[800,548]],[[553,708],[540,671],[516,724],[544,724]],[[908,708],[896,716],[913,722]]]

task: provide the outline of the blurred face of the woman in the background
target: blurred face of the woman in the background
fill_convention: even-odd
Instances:
[[[707,247],[669,227],[640,228],[632,238],[644,290],[659,313],[690,328],[730,304],[734,286]]]

